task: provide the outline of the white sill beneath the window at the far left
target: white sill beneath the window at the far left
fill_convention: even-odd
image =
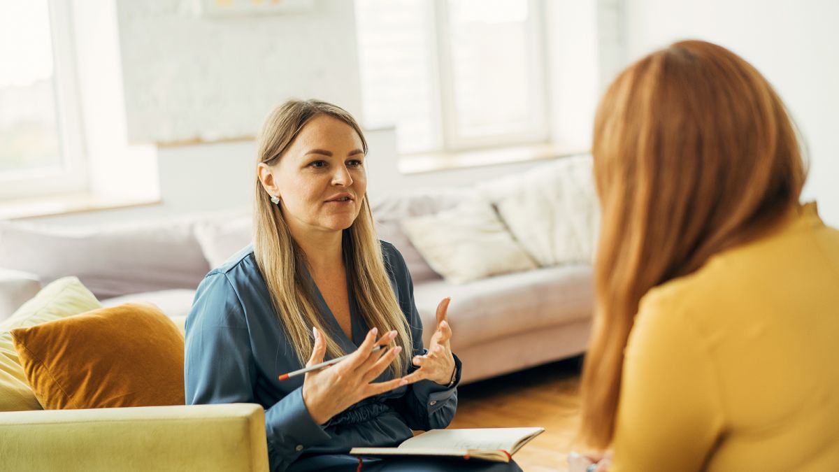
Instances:
[[[159,205],[156,198],[96,197],[88,193],[0,201],[0,219],[25,219]]]

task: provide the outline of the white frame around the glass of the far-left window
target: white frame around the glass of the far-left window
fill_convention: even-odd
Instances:
[[[0,172],[0,201],[89,190],[72,10],[69,0],[47,0],[47,5],[50,12],[53,97],[61,152],[60,165]]]

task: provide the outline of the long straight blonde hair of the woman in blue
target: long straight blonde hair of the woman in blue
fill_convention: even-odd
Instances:
[[[275,108],[263,124],[258,138],[258,163],[276,164],[305,124],[319,115],[329,115],[350,125],[367,154],[367,140],[350,113],[327,102],[289,100]],[[366,194],[358,217],[344,230],[341,244],[352,294],[364,321],[370,328],[378,328],[379,333],[392,329],[398,333],[395,343],[403,351],[391,364],[391,370],[393,375],[402,375],[413,355],[411,331],[385,270]],[[279,322],[300,363],[305,364],[311,355],[312,327],[324,335],[328,357],[347,354],[331,337],[326,320],[315,307],[315,287],[306,270],[305,254],[292,238],[282,210],[271,203],[258,176],[254,186],[253,253]]]

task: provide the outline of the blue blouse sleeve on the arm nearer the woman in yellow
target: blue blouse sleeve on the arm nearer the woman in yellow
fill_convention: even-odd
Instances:
[[[402,312],[406,313],[413,338],[414,355],[422,355],[427,352],[423,347],[422,320],[414,303],[414,282],[405,265],[402,254],[399,254],[393,246],[390,259],[393,275],[397,278],[397,290],[399,306]],[[414,430],[428,431],[430,429],[445,428],[449,426],[451,419],[455,417],[457,409],[457,385],[461,380],[461,360],[455,356],[456,377],[451,387],[440,385],[431,380],[420,380],[408,385],[404,396],[393,401],[393,407],[404,417],[408,427]],[[414,372],[419,367],[409,365],[408,373]]]

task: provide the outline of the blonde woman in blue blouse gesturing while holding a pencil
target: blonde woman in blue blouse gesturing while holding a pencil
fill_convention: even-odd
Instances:
[[[206,275],[187,318],[186,401],[263,405],[272,470],[518,470],[347,454],[446,427],[461,373],[447,300],[423,348],[410,274],[373,228],[366,155],[361,128],[334,105],[290,101],[269,115],[253,246]]]

